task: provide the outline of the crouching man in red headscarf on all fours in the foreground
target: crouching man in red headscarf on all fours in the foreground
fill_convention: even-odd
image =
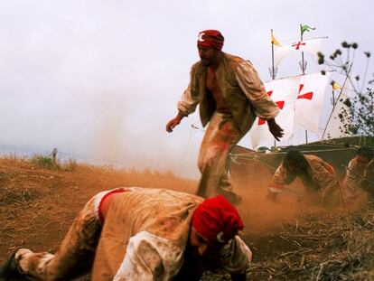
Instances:
[[[0,280],[200,280],[211,268],[246,280],[252,253],[238,237],[243,222],[222,196],[118,188],[90,199],[57,253],[20,248]]]

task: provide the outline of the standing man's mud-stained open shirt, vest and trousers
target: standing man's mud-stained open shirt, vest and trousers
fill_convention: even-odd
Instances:
[[[228,173],[229,152],[248,133],[257,117],[272,119],[279,109],[266,94],[252,64],[223,52],[215,72],[224,100],[220,103],[225,106],[225,112],[220,112],[217,101],[206,88],[206,72],[207,67],[201,61],[192,66],[190,83],[178,102],[178,110],[188,116],[200,105],[202,126],[209,123],[199,153],[201,183],[198,195],[211,197],[220,193],[231,201],[227,193],[232,189]]]

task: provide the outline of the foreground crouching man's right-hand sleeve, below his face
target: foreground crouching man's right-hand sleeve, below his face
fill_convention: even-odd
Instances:
[[[231,275],[243,275],[249,268],[252,251],[238,236],[220,251],[220,267]]]

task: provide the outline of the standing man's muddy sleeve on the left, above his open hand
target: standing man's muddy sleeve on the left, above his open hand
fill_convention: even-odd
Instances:
[[[192,66],[190,72],[190,83],[187,89],[182,93],[182,98],[178,102],[178,110],[182,111],[186,116],[192,114],[196,110],[199,104],[198,91],[197,91],[197,77],[195,73],[195,67]]]

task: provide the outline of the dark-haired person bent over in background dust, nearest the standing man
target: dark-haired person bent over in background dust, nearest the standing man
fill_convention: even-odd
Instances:
[[[286,152],[282,163],[276,169],[273,181],[268,186],[267,197],[275,200],[277,194],[285,190],[285,185],[293,183],[296,177],[301,179],[306,192],[323,204],[339,188],[331,164],[316,155],[303,155],[298,150],[291,149]]]

